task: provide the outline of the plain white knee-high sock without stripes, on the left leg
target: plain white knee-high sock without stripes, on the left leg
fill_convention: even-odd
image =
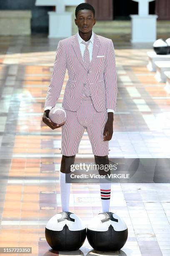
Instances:
[[[65,173],[60,172],[60,195],[62,212],[69,212],[70,185],[71,183],[65,183]]]

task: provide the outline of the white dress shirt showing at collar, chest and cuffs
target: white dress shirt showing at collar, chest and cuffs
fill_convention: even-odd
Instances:
[[[78,42],[79,42],[79,45],[80,45],[80,51],[81,51],[81,54],[82,54],[82,58],[83,58],[83,55],[84,55],[84,51],[85,51],[85,44],[82,44],[82,41],[84,41],[82,38],[81,38],[81,36],[79,35],[79,33],[77,32],[77,38],[78,38]],[[90,37],[90,43],[89,43],[89,45],[88,45],[88,50],[89,50],[89,55],[90,55],[90,61],[92,60],[92,49],[93,49],[93,43],[94,43],[94,33],[93,33],[93,31],[92,31],[92,36]],[[52,109],[52,107],[45,107],[44,108],[44,110],[47,110],[47,109],[49,109],[49,110],[51,110]],[[112,109],[108,109],[107,108],[107,113],[108,112],[115,112],[114,110],[112,110]]]

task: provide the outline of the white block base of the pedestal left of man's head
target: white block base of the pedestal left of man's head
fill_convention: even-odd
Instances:
[[[48,12],[49,14],[49,38],[61,38],[72,36],[72,13]]]

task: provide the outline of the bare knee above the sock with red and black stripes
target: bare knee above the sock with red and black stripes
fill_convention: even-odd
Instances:
[[[99,165],[98,171],[100,175],[110,174],[108,155],[95,156],[95,163]]]

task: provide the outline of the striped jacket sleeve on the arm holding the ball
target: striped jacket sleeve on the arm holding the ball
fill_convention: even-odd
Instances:
[[[52,108],[55,107],[55,104],[61,93],[66,69],[67,62],[65,56],[65,49],[63,47],[62,41],[59,41],[55,54],[53,72],[50,78],[50,85],[47,90],[44,108],[49,106]]]

